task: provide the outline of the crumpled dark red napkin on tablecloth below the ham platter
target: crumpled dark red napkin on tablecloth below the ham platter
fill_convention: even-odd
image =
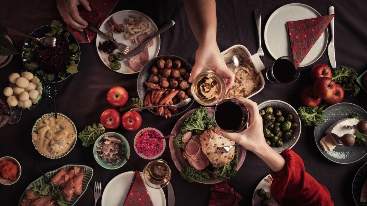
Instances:
[[[238,194],[227,183],[227,180],[218,184],[213,184],[211,188],[211,198],[209,206],[238,206],[238,201],[242,199],[242,196]]]

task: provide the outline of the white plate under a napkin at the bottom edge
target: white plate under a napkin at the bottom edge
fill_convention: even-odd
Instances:
[[[140,172],[141,178],[143,173]],[[127,192],[131,185],[131,180],[134,177],[134,172],[124,172],[114,177],[107,185],[102,194],[102,206],[121,206],[124,204]],[[145,183],[144,183],[145,184]],[[150,199],[155,206],[166,205],[166,197],[163,190],[149,187],[145,184],[148,190]]]

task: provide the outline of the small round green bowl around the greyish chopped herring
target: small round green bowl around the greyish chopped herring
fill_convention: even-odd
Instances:
[[[121,134],[116,133],[116,132],[106,132],[105,134],[102,134],[101,136],[99,136],[99,138],[94,143],[93,156],[95,158],[95,161],[97,161],[97,163],[99,165],[101,165],[103,168],[106,168],[106,169],[117,169],[117,168],[122,167],[124,164],[126,164],[125,158],[123,159],[123,161],[119,162],[116,165],[107,164],[106,162],[103,162],[101,160],[101,158],[99,158],[99,156],[97,154],[97,151],[96,151],[97,150],[97,145],[98,145],[99,141],[101,141],[104,138],[104,135],[107,135],[107,136],[112,135],[113,137],[115,137],[117,139],[120,139],[124,143],[124,146],[126,148],[126,157],[127,158],[130,157],[130,146],[129,146],[129,143],[127,142],[126,138],[124,138],[124,136],[122,136]]]

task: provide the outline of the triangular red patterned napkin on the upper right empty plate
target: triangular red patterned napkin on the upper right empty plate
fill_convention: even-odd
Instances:
[[[333,17],[334,14],[287,22],[286,25],[293,59],[295,59],[298,64],[301,64],[302,60],[305,59],[310,49],[319,39]]]

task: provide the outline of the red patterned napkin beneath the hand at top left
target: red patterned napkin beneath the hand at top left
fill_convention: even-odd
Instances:
[[[79,6],[79,13],[84,20],[99,28],[118,2],[119,0],[89,0],[92,11],[87,11],[84,7]],[[74,35],[79,43],[90,43],[96,35],[96,33],[88,29],[83,29],[83,32],[77,31],[70,26],[66,27],[66,29]]]

